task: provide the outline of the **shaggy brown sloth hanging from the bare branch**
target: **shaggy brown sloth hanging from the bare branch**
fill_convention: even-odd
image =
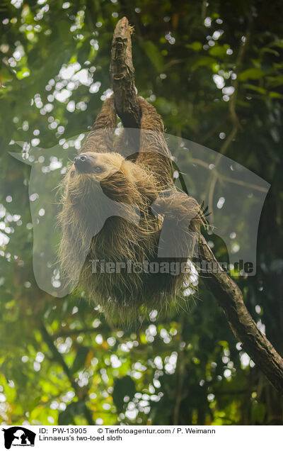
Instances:
[[[173,184],[161,116],[139,105],[140,132],[117,136],[114,99],[103,103],[64,178],[59,213],[63,277],[122,321],[182,294],[201,223],[197,201]]]

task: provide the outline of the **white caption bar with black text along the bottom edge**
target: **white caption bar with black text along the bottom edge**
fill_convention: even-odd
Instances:
[[[1,426],[2,450],[228,450],[266,451],[282,441],[282,426]],[[25,449],[28,451],[28,449]]]

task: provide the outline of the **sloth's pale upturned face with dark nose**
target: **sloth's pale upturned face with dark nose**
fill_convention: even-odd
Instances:
[[[122,155],[117,153],[83,152],[74,158],[69,171],[69,182],[76,184],[81,179],[100,182],[111,174],[119,171],[125,162]]]

